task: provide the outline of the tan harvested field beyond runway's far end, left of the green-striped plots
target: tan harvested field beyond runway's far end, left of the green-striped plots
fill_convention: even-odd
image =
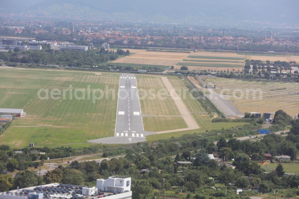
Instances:
[[[188,55],[189,53],[153,52],[153,51],[143,50],[131,56],[119,58],[117,60],[114,60],[113,62],[171,66],[181,61]]]

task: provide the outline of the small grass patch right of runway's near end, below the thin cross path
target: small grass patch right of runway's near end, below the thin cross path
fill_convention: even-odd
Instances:
[[[182,117],[142,117],[145,131],[165,131],[186,128]]]

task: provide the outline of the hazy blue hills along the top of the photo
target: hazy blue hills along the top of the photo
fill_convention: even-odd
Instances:
[[[2,0],[3,1],[3,0]],[[23,0],[3,1],[5,13],[80,16],[145,22],[235,25],[244,22],[298,23],[299,1],[290,0]]]

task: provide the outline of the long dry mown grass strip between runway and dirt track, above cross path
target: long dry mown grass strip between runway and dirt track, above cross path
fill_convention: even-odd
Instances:
[[[180,115],[160,77],[137,75],[136,79],[142,114]]]

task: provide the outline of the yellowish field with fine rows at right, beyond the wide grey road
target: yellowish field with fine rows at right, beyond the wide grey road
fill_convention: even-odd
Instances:
[[[208,78],[242,113],[274,113],[282,109],[291,117],[299,113],[299,83],[247,81],[239,79]]]

